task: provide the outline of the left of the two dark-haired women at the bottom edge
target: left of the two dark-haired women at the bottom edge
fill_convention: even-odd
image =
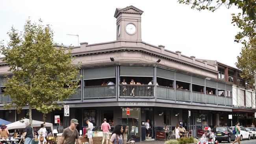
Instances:
[[[122,132],[124,129],[122,129],[122,125],[118,124],[115,126],[111,138],[109,140],[110,144],[122,144],[123,139],[122,139]]]

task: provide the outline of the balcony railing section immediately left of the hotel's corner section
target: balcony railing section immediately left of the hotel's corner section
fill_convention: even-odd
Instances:
[[[116,97],[115,85],[99,85],[84,87],[84,99],[114,98]]]

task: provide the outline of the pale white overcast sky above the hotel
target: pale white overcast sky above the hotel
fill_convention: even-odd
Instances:
[[[28,20],[43,20],[54,31],[54,42],[78,45],[116,40],[117,7],[135,6],[141,15],[142,41],[165,49],[181,51],[198,59],[217,60],[235,66],[241,44],[234,42],[239,31],[231,24],[232,7],[217,11],[197,11],[177,0],[2,0],[0,1],[0,40],[9,41],[11,26],[20,31]]]

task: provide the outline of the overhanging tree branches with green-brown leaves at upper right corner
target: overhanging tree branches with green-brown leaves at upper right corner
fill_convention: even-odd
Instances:
[[[191,4],[192,9],[214,12],[221,6],[230,8],[235,5],[242,13],[232,14],[232,23],[241,29],[235,35],[235,42],[241,42],[243,48],[237,56],[237,68],[241,69],[241,77],[254,82],[256,70],[256,1],[255,0],[178,0],[180,4]]]

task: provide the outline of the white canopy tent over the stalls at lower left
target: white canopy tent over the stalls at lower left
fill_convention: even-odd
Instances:
[[[29,119],[28,118],[25,118],[23,119],[23,123],[20,122],[20,121],[17,121],[17,122],[13,122],[11,124],[7,124],[7,128],[6,129],[24,129],[26,127],[26,122],[30,123],[29,122]],[[43,124],[44,122],[41,122],[41,121],[38,121],[38,120],[32,120],[32,126],[33,127],[41,127],[41,124]],[[46,127],[51,127],[51,130],[53,131],[53,126],[52,126],[52,123],[48,123],[48,122],[45,122],[45,125]]]

